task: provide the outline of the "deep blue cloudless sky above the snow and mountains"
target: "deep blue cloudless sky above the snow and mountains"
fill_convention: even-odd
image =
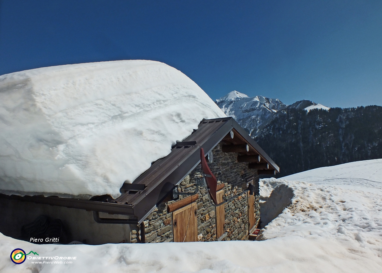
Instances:
[[[237,90],[382,105],[382,1],[0,0],[0,75],[151,59],[212,99]]]

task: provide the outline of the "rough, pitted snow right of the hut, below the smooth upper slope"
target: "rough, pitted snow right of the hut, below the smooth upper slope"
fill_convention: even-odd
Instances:
[[[291,187],[295,197],[292,204],[265,227],[264,239],[284,236],[332,238],[354,244],[350,251],[370,249],[377,257],[382,257],[382,200],[379,194],[307,182],[278,180],[277,183]]]

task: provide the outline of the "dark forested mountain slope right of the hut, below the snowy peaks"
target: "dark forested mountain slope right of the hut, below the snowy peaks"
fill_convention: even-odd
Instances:
[[[279,165],[279,176],[382,158],[382,107],[309,112],[288,107],[278,111],[255,140]]]

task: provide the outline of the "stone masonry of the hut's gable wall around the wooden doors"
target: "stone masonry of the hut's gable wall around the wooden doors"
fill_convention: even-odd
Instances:
[[[255,187],[259,187],[257,170],[248,169],[248,163],[237,162],[237,153],[223,153],[221,144],[213,150],[214,161],[209,167],[218,180],[224,183],[224,198],[228,199],[247,188],[246,178],[254,176]],[[188,177],[179,185],[179,191],[194,191],[195,176],[201,175],[198,165]],[[205,188],[199,188],[197,199],[197,225],[199,241],[216,241],[216,215],[215,207],[210,204]],[[258,192],[258,191],[257,191]],[[186,196],[180,196],[180,199]],[[172,213],[167,213],[167,205],[175,201],[160,204],[144,221],[146,242],[173,241]],[[224,204],[225,226],[227,236],[224,240],[242,240],[248,238],[248,195],[245,193],[238,198]],[[256,225],[260,220],[259,195],[255,195],[254,209]],[[131,225],[131,242],[140,242],[139,226]]]

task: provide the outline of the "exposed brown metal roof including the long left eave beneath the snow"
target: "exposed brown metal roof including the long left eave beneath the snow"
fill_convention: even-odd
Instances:
[[[231,130],[234,132],[233,139],[230,137]],[[274,169],[277,172],[280,171],[275,162],[241,128],[235,119],[225,117],[202,120],[197,130],[194,130],[181,143],[173,146],[170,154],[154,162],[146,172],[133,181],[133,184],[124,184],[121,188],[135,190],[127,190],[115,200],[106,198],[100,199],[104,200],[104,202],[101,202],[43,196],[14,196],[14,198],[57,206],[126,214],[134,216],[141,223],[155,209],[157,204],[162,202],[168,193],[172,192],[173,188],[200,163],[200,148],[203,148],[207,155],[222,140],[226,144],[249,145],[248,152],[241,152],[239,154],[259,154],[262,161],[269,163],[270,169]]]

